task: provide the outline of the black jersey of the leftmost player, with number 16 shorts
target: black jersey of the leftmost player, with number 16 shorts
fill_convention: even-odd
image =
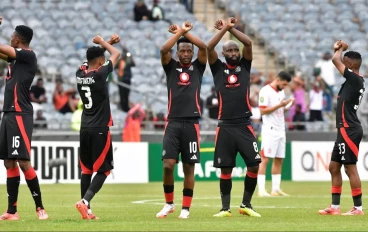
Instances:
[[[3,111],[33,114],[29,90],[37,71],[36,54],[24,48],[15,48],[15,53],[8,59]]]

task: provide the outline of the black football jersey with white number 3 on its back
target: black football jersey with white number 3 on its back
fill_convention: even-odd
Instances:
[[[112,72],[112,62],[106,61],[95,70],[87,71],[84,63],[77,71],[77,87],[83,102],[81,128],[107,128],[113,125],[107,78]]]

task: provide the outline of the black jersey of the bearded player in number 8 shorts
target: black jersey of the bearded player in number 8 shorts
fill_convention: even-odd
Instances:
[[[219,101],[219,120],[252,116],[249,103],[251,65],[252,61],[244,58],[237,66],[230,66],[220,59],[210,65]]]

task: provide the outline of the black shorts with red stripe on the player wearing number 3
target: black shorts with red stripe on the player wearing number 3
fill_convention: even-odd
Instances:
[[[80,130],[79,165],[82,173],[107,172],[114,169],[110,131]]]

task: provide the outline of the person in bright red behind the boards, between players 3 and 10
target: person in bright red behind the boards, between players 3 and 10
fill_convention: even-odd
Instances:
[[[141,123],[145,117],[140,104],[132,106],[125,118],[122,140],[123,142],[141,141]]]

